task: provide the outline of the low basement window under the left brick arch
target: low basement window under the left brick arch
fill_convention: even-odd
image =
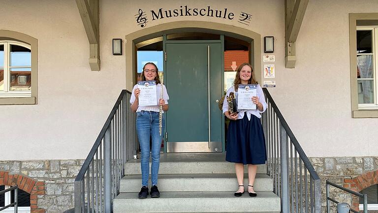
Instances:
[[[1,185],[0,191],[8,189],[10,186]],[[0,195],[0,208],[7,206],[14,202],[14,190],[6,192],[3,195]],[[30,194],[24,190],[18,189],[18,208],[19,213],[30,213]],[[1,213],[14,213],[14,207],[9,207],[1,211]]]

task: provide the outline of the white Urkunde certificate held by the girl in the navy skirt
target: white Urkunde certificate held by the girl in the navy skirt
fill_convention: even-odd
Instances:
[[[257,87],[255,84],[239,84],[238,89],[238,110],[240,109],[256,109],[256,105],[252,102],[252,96],[256,96]]]

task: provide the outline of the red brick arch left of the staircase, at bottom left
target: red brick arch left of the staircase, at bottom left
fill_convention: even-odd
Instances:
[[[31,213],[46,212],[44,209],[38,208],[37,204],[37,195],[45,194],[45,183],[43,181],[37,181],[19,174],[9,175],[9,172],[0,171],[0,185],[18,185],[19,189],[22,189],[30,194]]]

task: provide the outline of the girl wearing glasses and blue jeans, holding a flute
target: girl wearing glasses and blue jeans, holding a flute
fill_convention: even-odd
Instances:
[[[150,163],[150,137],[152,138],[152,165],[151,165],[151,197],[158,198],[160,197],[160,193],[158,190],[158,171],[159,171],[159,163],[160,163],[160,147],[162,137],[164,135],[164,117],[162,120],[162,130],[161,136],[159,135],[159,106],[162,106],[163,111],[168,110],[168,93],[163,85],[163,98],[160,99],[160,78],[158,75],[158,67],[149,62],[144,65],[143,71],[141,73],[141,80],[142,81],[156,81],[156,89],[157,89],[157,99],[158,103],[156,106],[139,106],[139,94],[140,89],[138,89],[138,85],[135,85],[132,89],[132,94],[130,98],[131,110],[136,112],[136,131],[138,134],[141,156],[140,156],[140,163],[141,163],[141,170],[142,170],[142,188],[138,194],[138,198],[147,198],[148,192],[148,178],[149,178],[149,163]]]

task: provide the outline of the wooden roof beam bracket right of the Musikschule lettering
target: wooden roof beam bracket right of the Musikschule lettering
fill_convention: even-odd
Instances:
[[[285,67],[294,68],[295,41],[305,16],[309,0],[285,0]]]

